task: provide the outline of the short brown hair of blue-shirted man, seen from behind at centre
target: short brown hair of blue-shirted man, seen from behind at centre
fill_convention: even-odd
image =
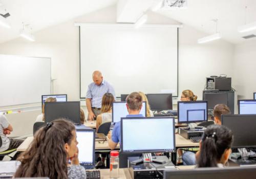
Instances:
[[[133,92],[126,97],[126,103],[132,110],[139,110],[142,106],[142,97],[139,93]]]

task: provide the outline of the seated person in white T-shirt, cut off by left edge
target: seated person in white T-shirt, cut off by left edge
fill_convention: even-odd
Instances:
[[[10,135],[13,128],[12,125],[8,122],[6,116],[3,113],[0,113],[0,137],[2,139],[2,145],[0,146],[0,152],[11,150],[17,148],[20,144],[23,143],[23,140],[20,139],[11,139],[6,135]],[[16,153],[13,157],[13,160],[16,159]]]

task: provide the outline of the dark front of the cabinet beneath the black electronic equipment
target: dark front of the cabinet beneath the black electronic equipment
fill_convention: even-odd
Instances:
[[[203,100],[207,100],[208,109],[214,109],[216,104],[225,104],[228,106],[227,93],[204,93]]]

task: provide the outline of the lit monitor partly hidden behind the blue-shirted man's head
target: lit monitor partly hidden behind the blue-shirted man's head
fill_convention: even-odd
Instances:
[[[146,102],[143,101],[142,108],[140,110],[140,114],[143,115],[143,117],[146,117]],[[116,123],[121,120],[121,118],[125,118],[127,115],[129,115],[127,108],[126,108],[126,102],[118,102],[115,101],[112,104],[112,122]]]

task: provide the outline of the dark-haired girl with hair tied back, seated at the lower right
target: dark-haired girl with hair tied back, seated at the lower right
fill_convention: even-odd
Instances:
[[[200,150],[196,154],[197,166],[223,168],[231,153],[232,141],[232,132],[226,126],[208,126],[200,141]]]

